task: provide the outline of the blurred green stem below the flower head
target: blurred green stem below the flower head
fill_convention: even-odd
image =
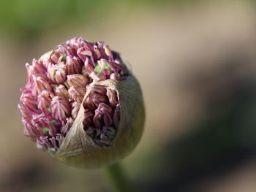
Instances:
[[[106,166],[104,172],[108,177],[110,185],[113,187],[113,191],[129,192],[127,177],[120,163]]]

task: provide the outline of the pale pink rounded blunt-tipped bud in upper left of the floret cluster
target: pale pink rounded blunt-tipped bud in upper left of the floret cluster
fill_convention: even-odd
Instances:
[[[67,79],[67,66],[64,64],[49,64],[48,78],[53,83],[63,83]]]

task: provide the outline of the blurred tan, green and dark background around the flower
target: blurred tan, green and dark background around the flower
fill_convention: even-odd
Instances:
[[[102,40],[138,77],[146,127],[124,159],[132,191],[256,191],[254,1],[1,0],[0,191],[110,191],[23,137],[26,62],[72,37]]]

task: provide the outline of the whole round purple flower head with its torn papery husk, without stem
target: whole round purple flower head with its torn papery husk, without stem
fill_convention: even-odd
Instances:
[[[74,37],[32,63],[18,108],[37,147],[80,167],[111,164],[134,150],[143,98],[118,53]]]

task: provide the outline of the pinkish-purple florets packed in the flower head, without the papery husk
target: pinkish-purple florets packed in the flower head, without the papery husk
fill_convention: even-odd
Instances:
[[[26,64],[26,69],[28,80],[25,88],[20,88],[18,106],[26,136],[42,149],[58,150],[83,104],[86,134],[97,145],[111,145],[120,119],[117,93],[90,85],[127,77],[118,53],[104,42],[73,38]],[[89,96],[83,99],[89,89]]]

